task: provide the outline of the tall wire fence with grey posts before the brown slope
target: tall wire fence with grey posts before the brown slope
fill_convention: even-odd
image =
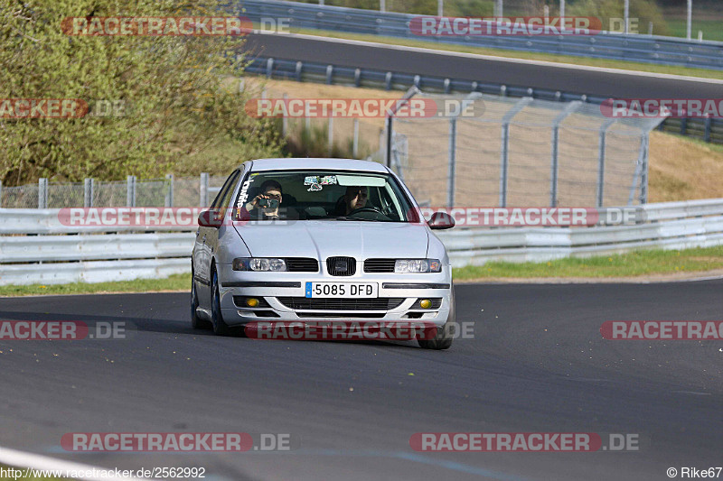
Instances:
[[[389,121],[390,165],[422,205],[647,201],[648,135],[662,119],[611,118],[579,101],[416,95],[440,112],[456,112]]]

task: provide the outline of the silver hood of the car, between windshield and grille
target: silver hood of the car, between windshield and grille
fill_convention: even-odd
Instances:
[[[424,258],[427,227],[409,223],[305,220],[284,223],[234,223],[254,257],[335,255],[367,259]]]

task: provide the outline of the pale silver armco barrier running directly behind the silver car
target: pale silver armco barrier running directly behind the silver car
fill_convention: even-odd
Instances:
[[[455,228],[437,235],[454,267],[723,244],[723,199],[639,208],[646,221],[634,226]],[[0,209],[0,285],[122,281],[191,270],[195,228],[131,232],[138,227],[127,227],[126,233],[117,234],[123,230],[117,226],[62,226],[58,212]]]

